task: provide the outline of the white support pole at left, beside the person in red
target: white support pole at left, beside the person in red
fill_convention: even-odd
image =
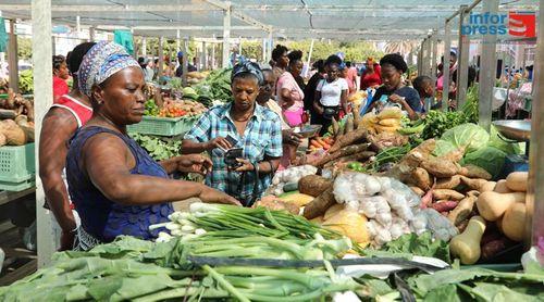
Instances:
[[[32,1],[33,26],[33,65],[34,65],[34,105],[36,114],[35,144],[39,146],[41,121],[47,110],[53,103],[53,70],[51,56],[51,0]],[[54,252],[51,227],[51,213],[44,209],[45,194],[39,179],[38,148],[35,150],[36,161],[36,227],[38,239],[38,267],[50,263]]]

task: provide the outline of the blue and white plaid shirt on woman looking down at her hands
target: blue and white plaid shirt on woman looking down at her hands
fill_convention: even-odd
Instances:
[[[256,104],[244,136],[239,136],[231,117],[232,103],[214,106],[205,113],[185,135],[185,139],[207,142],[217,137],[231,135],[238,140],[234,148],[244,149],[244,158],[251,163],[261,162],[265,156],[282,156],[282,124],[273,111]],[[255,174],[251,172],[228,172],[224,163],[224,152],[215,148],[211,151],[213,171],[206,177],[206,185],[221,190],[242,202],[250,199],[255,188]],[[272,181],[272,174],[261,175],[258,197]],[[250,205],[250,204],[246,204]]]

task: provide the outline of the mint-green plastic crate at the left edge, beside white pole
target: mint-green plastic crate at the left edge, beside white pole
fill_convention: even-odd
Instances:
[[[34,178],[36,159],[34,142],[0,147],[0,181],[18,184]]]

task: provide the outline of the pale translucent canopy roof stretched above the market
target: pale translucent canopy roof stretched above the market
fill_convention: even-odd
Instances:
[[[231,36],[244,38],[421,39],[472,0],[52,0],[53,24],[133,29],[138,36],[223,35],[231,8]],[[499,10],[537,10],[537,0],[500,0]],[[30,18],[30,0],[3,0],[2,15]],[[479,8],[477,8],[479,10]],[[453,28],[455,23],[452,24]],[[440,32],[438,32],[440,33]]]

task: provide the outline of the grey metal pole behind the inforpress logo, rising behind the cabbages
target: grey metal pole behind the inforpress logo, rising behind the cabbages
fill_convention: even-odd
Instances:
[[[483,13],[496,14],[498,1],[484,0]],[[480,56],[480,90],[479,95],[479,124],[487,131],[491,129],[491,115],[493,102],[493,87],[495,87],[495,73],[497,70],[497,36],[483,35],[482,53]]]

